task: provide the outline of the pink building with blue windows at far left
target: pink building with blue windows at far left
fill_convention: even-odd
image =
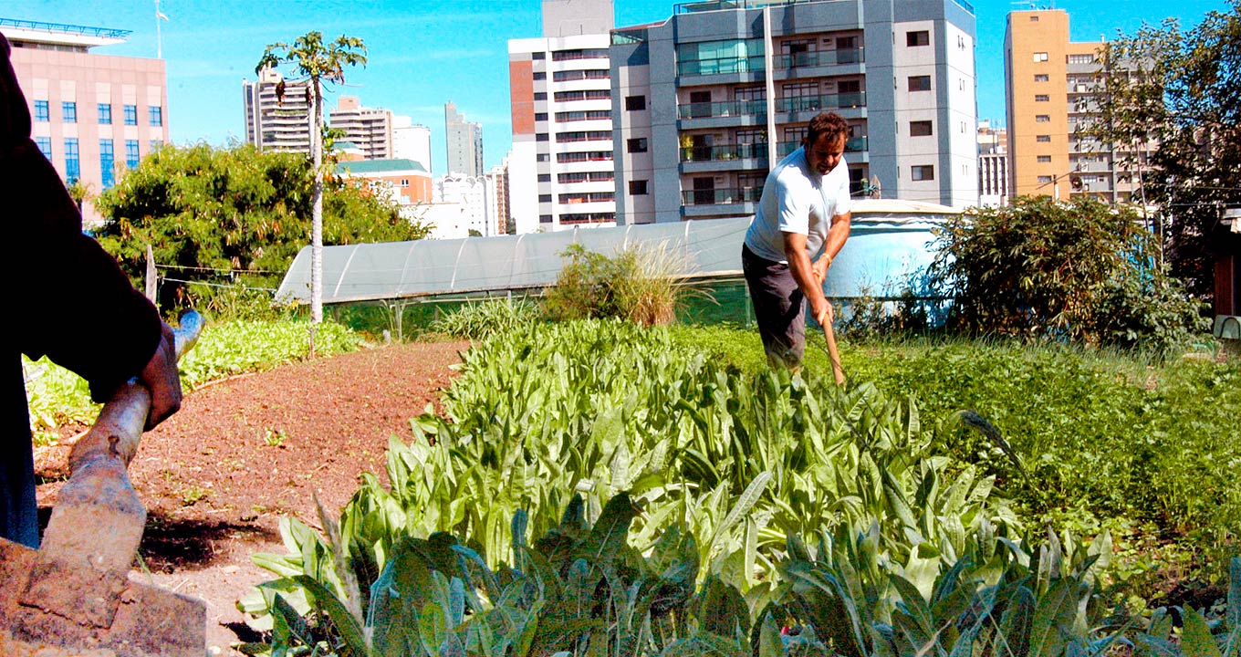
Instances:
[[[127,30],[0,19],[30,103],[31,135],[65,183],[88,195],[110,188],[168,143],[168,77],[163,60],[96,55]],[[86,225],[103,217],[82,204]]]

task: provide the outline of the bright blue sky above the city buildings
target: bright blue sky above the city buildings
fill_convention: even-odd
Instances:
[[[613,0],[617,26],[661,21],[671,0]],[[896,0],[901,1],[901,0]],[[1183,27],[1226,0],[1010,2],[972,0],[978,19],[978,116],[1004,124],[1004,26],[1015,9],[1055,6],[1070,16],[1073,41],[1133,34],[1143,22],[1174,16]],[[432,130],[432,164],[444,173],[444,103],[483,124],[486,165],[499,164],[511,143],[508,41],[537,37],[539,0],[161,0],[163,52],[168,61],[169,127],[177,144],[243,140],[241,79],[276,41],[319,30],[326,37],[361,37],[366,68],[347,72],[364,106],[386,107]],[[6,0],[0,17],[132,30],[129,41],[98,53],[154,57],[155,0]],[[329,98],[329,107],[335,99]]]

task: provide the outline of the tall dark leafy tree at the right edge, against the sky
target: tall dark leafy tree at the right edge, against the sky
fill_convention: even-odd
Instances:
[[[1211,232],[1241,202],[1241,0],[1184,31],[1175,20],[1122,36],[1104,50],[1101,119],[1081,129],[1117,145],[1142,174],[1148,202],[1164,209],[1172,273],[1195,296],[1212,296]],[[1128,161],[1126,161],[1128,160]]]

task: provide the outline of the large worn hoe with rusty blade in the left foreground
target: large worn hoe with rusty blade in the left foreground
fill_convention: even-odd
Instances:
[[[181,315],[176,355],[202,317]],[[42,546],[0,539],[0,656],[202,657],[206,606],[129,578],[146,509],[127,467],[150,410],[137,380],[120,386],[69,453]]]

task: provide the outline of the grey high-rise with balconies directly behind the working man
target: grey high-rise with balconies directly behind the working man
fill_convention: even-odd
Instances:
[[[824,111],[854,193],[978,202],[974,14],[961,0],[692,2],[613,32],[618,222],[750,216]]]

